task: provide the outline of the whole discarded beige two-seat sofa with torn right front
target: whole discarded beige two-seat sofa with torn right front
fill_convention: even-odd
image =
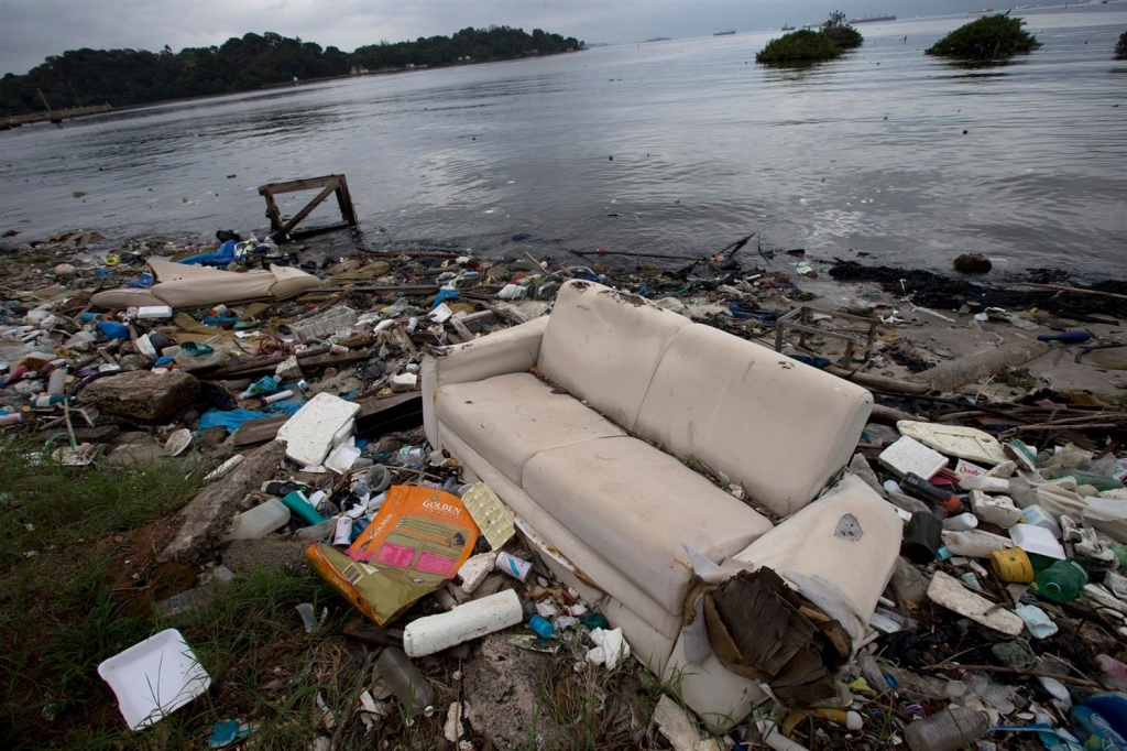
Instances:
[[[719,626],[702,648],[701,619],[716,626],[717,611],[739,604],[717,571],[745,569],[738,584],[766,587],[787,618],[805,618],[799,600],[801,612],[831,613],[826,634],[846,651],[862,638],[902,522],[851,476],[811,501],[857,447],[872,405],[864,389],[583,281],[562,286],[549,317],[435,351],[423,388],[432,445],[489,483],[553,573],[598,603],[644,664],[680,680],[715,728],[764,700],[780,668],[778,654],[737,665],[739,650],[709,648]],[[773,525],[695,462],[789,519]],[[748,573],[760,568],[773,574]],[[770,631],[737,625],[729,636]]]

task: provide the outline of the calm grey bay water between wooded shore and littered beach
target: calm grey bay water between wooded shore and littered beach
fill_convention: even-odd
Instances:
[[[991,69],[923,54],[952,17],[863,25],[798,71],[756,65],[778,33],[752,33],[24,127],[0,133],[0,232],[256,229],[258,185],[345,173],[365,230],[478,251],[529,233],[699,256],[758,230],[820,257],[1121,276],[1124,8],[1028,12],[1045,46]]]

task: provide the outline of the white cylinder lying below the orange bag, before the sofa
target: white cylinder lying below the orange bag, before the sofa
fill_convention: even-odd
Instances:
[[[521,598],[513,590],[505,590],[450,612],[411,621],[403,629],[403,651],[410,657],[421,657],[516,626],[523,619]]]

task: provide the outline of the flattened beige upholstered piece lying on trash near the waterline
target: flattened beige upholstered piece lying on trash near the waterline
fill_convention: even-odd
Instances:
[[[234,273],[189,266],[170,260],[149,260],[156,283],[148,290],[122,288],[95,294],[97,308],[171,306],[204,308],[251,300],[284,300],[321,284],[300,268],[270,266],[269,271]]]

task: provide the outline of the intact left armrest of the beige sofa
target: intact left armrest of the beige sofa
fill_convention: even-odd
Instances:
[[[423,359],[423,425],[434,449],[442,449],[434,415],[434,392],[449,383],[483,381],[523,373],[536,364],[548,316],[496,332],[480,339],[436,347]]]

